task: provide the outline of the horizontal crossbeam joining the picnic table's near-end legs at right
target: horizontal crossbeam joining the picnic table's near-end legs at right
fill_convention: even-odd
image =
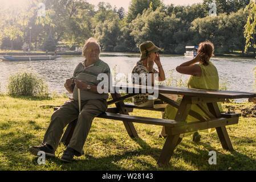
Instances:
[[[212,129],[214,127],[222,127],[227,125],[234,125],[238,123],[239,118],[216,118],[205,122],[191,122],[184,126],[172,127],[168,135],[190,133],[198,130]]]

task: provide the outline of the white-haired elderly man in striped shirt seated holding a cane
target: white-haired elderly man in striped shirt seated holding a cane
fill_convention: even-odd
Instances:
[[[74,135],[60,160],[71,162],[74,155],[82,155],[84,142],[91,129],[92,120],[107,109],[108,93],[98,93],[97,85],[101,80],[97,80],[97,76],[100,73],[108,75],[108,84],[107,86],[104,85],[108,88],[100,87],[104,90],[109,90],[111,76],[108,64],[99,59],[99,53],[100,46],[96,40],[88,39],[83,47],[83,56],[86,57],[86,60],[79,63],[75,68],[75,79],[68,79],[64,84],[68,92],[73,94],[73,100],[67,101],[52,114],[51,123],[44,135],[42,144],[29,148],[32,154],[37,155],[38,151],[44,151],[47,156],[55,156],[64,127],[78,118]],[[80,114],[79,110],[81,111]]]

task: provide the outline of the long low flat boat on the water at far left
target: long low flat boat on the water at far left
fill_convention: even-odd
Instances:
[[[41,60],[55,60],[60,56],[51,56],[51,55],[38,55],[38,56],[3,56],[4,59],[11,61],[41,61]]]

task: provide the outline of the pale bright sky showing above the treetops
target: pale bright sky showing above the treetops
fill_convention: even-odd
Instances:
[[[131,2],[131,0],[87,0],[87,2],[95,6],[102,1],[110,3],[113,7],[116,6],[117,9],[124,7],[126,12],[128,11],[129,3]],[[203,0],[163,0],[163,2],[165,5],[170,5],[171,3],[174,5],[192,5],[193,3],[203,2]]]

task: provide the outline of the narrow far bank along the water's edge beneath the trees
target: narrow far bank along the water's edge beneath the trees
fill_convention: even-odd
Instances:
[[[82,55],[82,52],[78,51],[57,51],[58,55],[66,55],[66,56],[80,56]],[[104,55],[115,55],[116,52],[101,52],[101,54]],[[119,52],[120,54],[120,52]],[[123,52],[122,54],[128,55],[128,56],[139,56],[139,53],[127,53]],[[45,55],[45,52],[43,51],[31,51],[31,52],[21,52],[21,51],[2,51],[0,50],[0,56],[5,56],[5,55],[12,55],[12,56],[26,56],[26,55]],[[48,55],[54,55],[54,52],[48,52]],[[162,56],[184,56],[184,55],[169,55],[169,54],[162,54]],[[250,55],[242,55],[242,54],[234,54],[234,53],[225,53],[225,54],[219,54],[215,53],[215,57],[229,57],[229,58],[237,58],[237,59],[255,59],[255,55],[250,54]]]

